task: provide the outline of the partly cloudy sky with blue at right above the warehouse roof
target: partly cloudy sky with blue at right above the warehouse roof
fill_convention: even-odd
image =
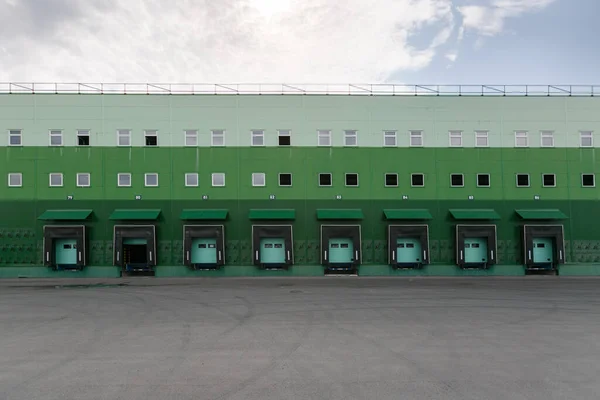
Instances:
[[[600,84],[599,0],[0,0],[0,82]]]

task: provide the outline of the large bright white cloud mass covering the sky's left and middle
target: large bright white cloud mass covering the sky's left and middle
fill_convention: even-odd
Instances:
[[[454,28],[452,0],[0,0],[0,24],[25,82],[380,82]]]

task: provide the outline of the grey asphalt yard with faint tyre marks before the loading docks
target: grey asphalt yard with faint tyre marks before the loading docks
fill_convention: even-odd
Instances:
[[[598,399],[600,279],[0,282],[0,399]]]

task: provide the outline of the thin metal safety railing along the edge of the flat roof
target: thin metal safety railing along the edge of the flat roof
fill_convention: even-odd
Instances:
[[[587,96],[600,85],[405,85],[307,83],[26,83],[0,82],[0,94]]]

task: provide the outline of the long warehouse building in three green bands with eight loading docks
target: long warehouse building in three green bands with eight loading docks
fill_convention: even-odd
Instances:
[[[0,277],[599,275],[595,89],[1,84]]]

